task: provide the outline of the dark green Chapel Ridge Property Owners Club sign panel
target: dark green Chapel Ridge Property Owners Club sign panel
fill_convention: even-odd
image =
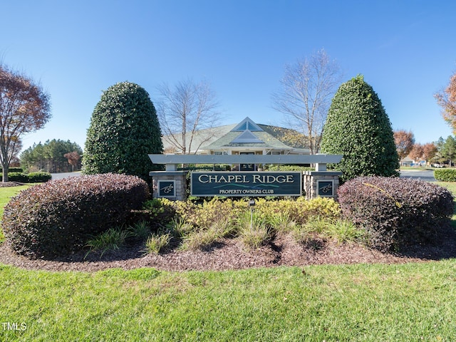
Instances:
[[[301,196],[301,172],[192,172],[192,196]]]

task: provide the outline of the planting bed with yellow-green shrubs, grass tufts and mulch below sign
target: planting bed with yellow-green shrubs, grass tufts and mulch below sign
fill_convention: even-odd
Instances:
[[[26,268],[97,270],[245,269],[259,266],[402,263],[451,257],[455,234],[393,253],[366,247],[368,237],[346,219],[332,199],[247,199],[170,202],[153,199],[133,210],[126,224],[90,239],[79,252],[57,259],[21,257],[7,244],[0,260]],[[251,221],[252,218],[252,221]],[[63,261],[63,262],[62,262]]]

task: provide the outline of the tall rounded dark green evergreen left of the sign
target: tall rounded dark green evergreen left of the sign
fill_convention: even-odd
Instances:
[[[149,179],[161,170],[148,154],[162,153],[160,123],[147,91],[130,82],[110,86],[93,110],[83,155],[83,173],[121,173]]]

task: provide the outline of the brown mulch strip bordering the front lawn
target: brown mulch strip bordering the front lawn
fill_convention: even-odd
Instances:
[[[24,269],[47,271],[100,271],[120,268],[136,269],[153,267],[166,271],[249,269],[274,266],[308,266],[317,264],[402,264],[456,257],[456,234],[448,232],[440,244],[413,246],[401,254],[381,253],[357,244],[326,242],[314,246],[303,246],[294,242],[289,235],[276,237],[259,249],[246,249],[238,239],[222,239],[204,250],[169,250],[161,254],[142,254],[144,244],[123,247],[117,251],[73,254],[59,260],[31,260],[19,256],[4,243],[0,246],[0,262]]]

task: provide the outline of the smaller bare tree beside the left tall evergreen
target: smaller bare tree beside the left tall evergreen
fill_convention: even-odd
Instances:
[[[187,79],[174,88],[163,83],[158,92],[157,114],[166,142],[183,155],[196,153],[214,137],[213,128],[219,124],[219,103],[214,91],[205,81]]]

